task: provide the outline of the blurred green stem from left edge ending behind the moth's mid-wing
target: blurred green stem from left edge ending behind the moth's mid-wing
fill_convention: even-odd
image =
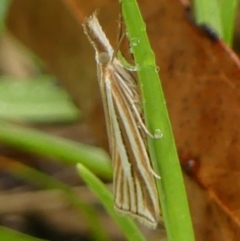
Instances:
[[[112,178],[109,156],[97,147],[54,137],[3,121],[0,122],[0,142],[20,150],[55,158],[68,165],[81,162],[94,173],[106,179]]]

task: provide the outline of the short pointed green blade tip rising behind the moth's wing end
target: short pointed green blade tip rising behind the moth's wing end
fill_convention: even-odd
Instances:
[[[112,193],[105,187],[105,185],[92,172],[81,164],[77,164],[77,170],[82,179],[86,182],[88,187],[97,195],[108,213],[118,224],[122,232],[131,241],[146,240],[139,231],[134,222],[127,217],[122,217],[116,214],[113,208]]]

